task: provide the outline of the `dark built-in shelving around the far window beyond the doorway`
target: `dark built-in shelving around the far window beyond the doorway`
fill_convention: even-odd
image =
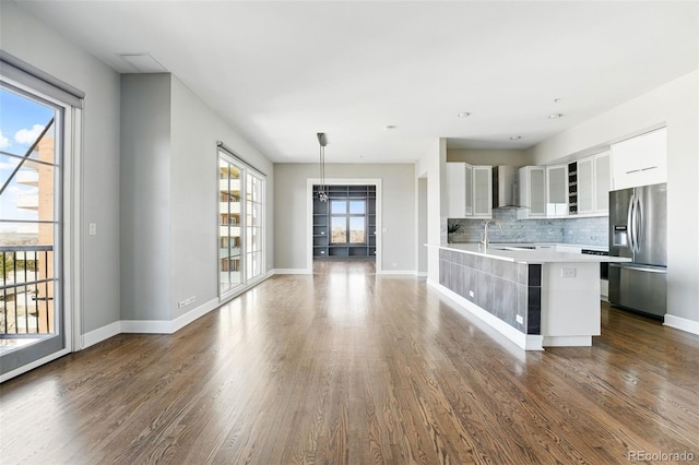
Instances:
[[[328,202],[318,199],[319,186],[313,186],[313,258],[355,259],[376,257],[376,186],[327,186]],[[365,238],[359,243],[334,243],[331,240],[332,201],[365,200]]]

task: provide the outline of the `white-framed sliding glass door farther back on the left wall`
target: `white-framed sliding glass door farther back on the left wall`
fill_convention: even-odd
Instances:
[[[218,295],[234,294],[264,270],[264,176],[218,151]]]

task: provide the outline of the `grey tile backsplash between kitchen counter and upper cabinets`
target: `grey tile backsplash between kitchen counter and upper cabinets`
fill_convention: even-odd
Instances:
[[[502,223],[505,234],[497,225],[488,226],[491,242],[557,242],[581,246],[607,247],[608,217],[517,219],[516,210],[496,208],[493,218]],[[486,219],[449,218],[448,224],[458,223],[461,229],[451,236],[450,242],[478,242]]]

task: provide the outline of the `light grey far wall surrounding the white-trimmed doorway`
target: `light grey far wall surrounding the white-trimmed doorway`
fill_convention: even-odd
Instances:
[[[307,179],[318,178],[316,164],[274,165],[274,267],[306,270]],[[325,178],[380,178],[382,186],[381,261],[387,272],[415,272],[415,167],[412,164],[328,164]],[[393,263],[395,265],[393,266]]]

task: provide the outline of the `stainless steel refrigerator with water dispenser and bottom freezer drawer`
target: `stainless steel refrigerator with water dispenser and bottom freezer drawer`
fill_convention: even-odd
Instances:
[[[667,300],[667,184],[609,192],[609,302],[662,318]]]

